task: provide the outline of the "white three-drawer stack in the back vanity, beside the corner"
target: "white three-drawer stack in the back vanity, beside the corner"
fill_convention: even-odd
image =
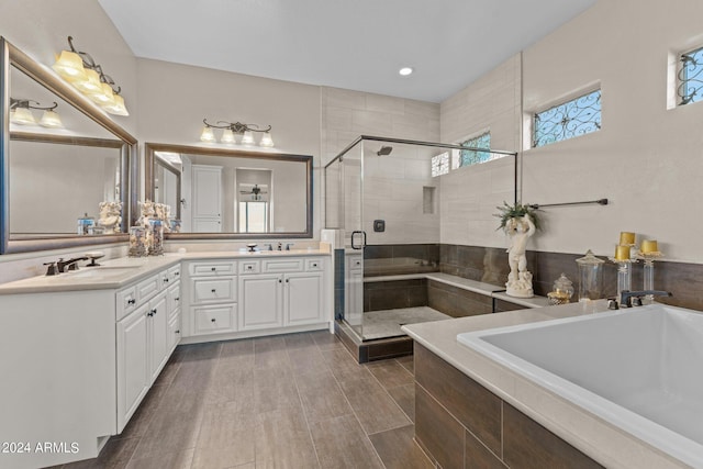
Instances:
[[[227,259],[183,263],[188,288],[183,337],[237,331],[237,263]]]

